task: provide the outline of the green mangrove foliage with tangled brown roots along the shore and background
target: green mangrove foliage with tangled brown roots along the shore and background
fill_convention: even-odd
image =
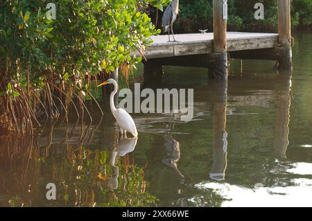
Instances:
[[[46,120],[69,109],[92,116],[85,100],[92,80],[141,62],[130,53],[144,50],[160,33],[163,7],[170,0],[58,1],[56,19],[46,16],[46,1],[0,3],[0,133],[33,134]],[[277,28],[277,1],[259,0],[265,19],[254,19],[254,1],[229,0],[229,30],[263,32]],[[156,10],[157,8],[157,10]],[[312,27],[312,0],[292,1],[293,28]],[[180,2],[177,33],[212,30],[212,0]],[[97,103],[96,103],[97,104]],[[98,108],[101,107],[97,104]]]

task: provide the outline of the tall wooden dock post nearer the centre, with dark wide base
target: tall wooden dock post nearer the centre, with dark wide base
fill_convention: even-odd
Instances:
[[[227,79],[227,0],[214,0],[214,53],[209,78]]]

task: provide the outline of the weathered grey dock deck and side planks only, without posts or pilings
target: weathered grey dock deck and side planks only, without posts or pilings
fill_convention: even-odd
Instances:
[[[168,35],[151,37],[144,55],[147,59],[214,53],[214,33],[175,35],[178,42],[168,42]],[[227,52],[275,48],[279,35],[274,33],[227,33]]]

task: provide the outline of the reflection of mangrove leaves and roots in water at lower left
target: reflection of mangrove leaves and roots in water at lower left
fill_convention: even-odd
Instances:
[[[45,130],[35,138],[1,136],[1,206],[156,205],[131,154],[137,138],[119,139],[116,127],[105,127],[101,136],[98,125]],[[96,139],[105,143],[98,147]],[[56,200],[46,200],[50,182]]]

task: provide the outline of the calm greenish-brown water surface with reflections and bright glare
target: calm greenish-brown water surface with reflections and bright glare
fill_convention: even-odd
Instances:
[[[193,88],[194,118],[134,114],[137,140],[118,141],[95,105],[91,125],[73,114],[32,139],[2,135],[0,206],[312,206],[311,38],[295,35],[292,76],[235,60],[220,85],[166,67],[155,88]]]

